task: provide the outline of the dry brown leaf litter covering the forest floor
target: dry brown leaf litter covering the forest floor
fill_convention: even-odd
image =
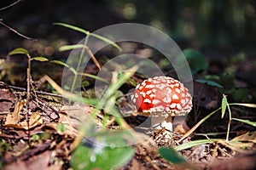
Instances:
[[[6,94],[6,89],[4,93]],[[9,93],[12,94],[11,91]],[[13,99],[14,95],[17,96],[15,99]],[[9,105],[9,108],[6,108],[4,112],[2,111],[3,114],[0,115],[1,143],[6,143],[10,146],[9,149],[2,152],[4,168],[67,169],[70,167],[71,144],[79,134],[79,126],[90,118],[90,113],[94,110],[94,107],[79,103],[74,103],[73,105],[56,103],[53,105],[52,101],[38,97],[41,102],[38,103],[36,99],[30,102],[30,105],[34,106],[29,114],[29,122],[26,122],[26,101],[20,99],[19,95],[19,93],[14,92],[12,95],[4,96],[6,101],[12,101],[12,105]],[[52,116],[53,113],[54,117]],[[102,127],[104,113],[97,111],[96,115],[94,122],[97,127]],[[131,125],[136,125],[137,122],[141,121],[137,118],[134,119],[132,115],[125,119],[130,121]],[[60,123],[65,128],[61,128],[62,125],[60,126]],[[107,124],[109,128],[116,127],[113,120]],[[144,134],[138,133],[138,135]],[[163,159],[159,155],[158,149],[159,147],[168,147],[170,145],[175,147],[179,144],[186,144],[192,139],[184,139],[182,142],[177,143],[178,139],[183,136],[183,133],[180,132],[156,131],[150,133],[150,136],[151,138],[147,141],[136,144],[136,153],[133,159],[124,167],[119,167],[119,169],[181,168]],[[228,159],[231,163],[234,163],[235,161],[233,162],[232,160],[236,159],[236,161],[240,161],[239,157],[242,157],[243,161],[252,160],[253,153],[250,150],[255,150],[255,143],[255,132],[242,133],[231,139],[230,144],[226,144],[224,141],[199,144],[181,150],[179,154],[182,154],[191,162],[193,167],[219,169],[224,167],[221,160]],[[242,166],[249,168],[255,166],[255,164],[250,162]]]

